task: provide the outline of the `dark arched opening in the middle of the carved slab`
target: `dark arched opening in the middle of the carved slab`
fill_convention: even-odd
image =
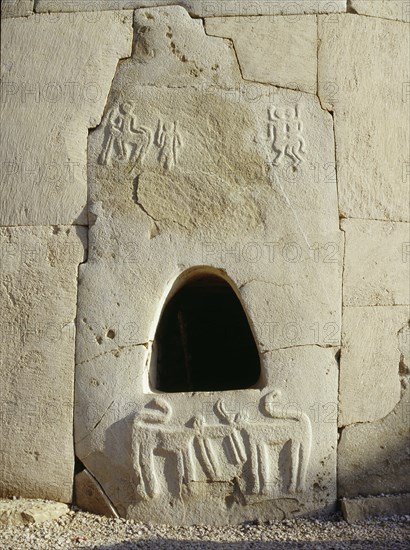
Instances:
[[[221,277],[196,277],[171,298],[155,345],[152,384],[156,390],[238,390],[259,380],[259,354],[248,320],[235,292]]]

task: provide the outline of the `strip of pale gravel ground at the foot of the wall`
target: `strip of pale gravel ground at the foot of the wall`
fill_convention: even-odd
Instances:
[[[0,548],[13,550],[175,549],[267,550],[278,548],[410,548],[410,516],[349,525],[340,516],[324,520],[284,520],[235,527],[152,526],[70,511],[39,525],[0,530]]]

